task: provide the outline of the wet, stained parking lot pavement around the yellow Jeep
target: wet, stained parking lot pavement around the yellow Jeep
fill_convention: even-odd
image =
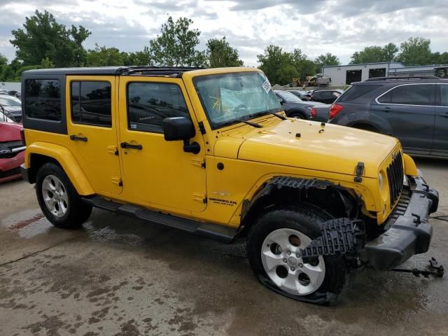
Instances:
[[[448,214],[448,161],[417,160]],[[295,302],[260,285],[244,241],[221,244],[94,210],[83,230],[52,228],[34,186],[0,186],[1,335],[448,335],[448,280],[365,271],[339,304]],[[443,219],[443,218],[442,218]],[[448,261],[448,223],[430,251]],[[448,265],[448,264],[447,264]]]

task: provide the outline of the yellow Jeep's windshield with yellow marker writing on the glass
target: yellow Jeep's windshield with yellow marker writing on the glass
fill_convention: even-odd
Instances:
[[[194,83],[214,129],[281,111],[269,80],[259,72],[200,76]]]

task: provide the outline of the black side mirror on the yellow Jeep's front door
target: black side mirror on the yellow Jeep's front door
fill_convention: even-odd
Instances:
[[[201,147],[197,142],[190,144],[190,139],[195,137],[195,125],[185,117],[165,118],[162,122],[163,136],[166,141],[183,141],[183,151],[197,154]]]

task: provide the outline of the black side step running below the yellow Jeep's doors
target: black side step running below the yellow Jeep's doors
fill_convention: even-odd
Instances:
[[[225,243],[231,243],[238,232],[237,229],[228,228],[223,225],[202,223],[186,218],[162,214],[160,212],[151,211],[137,205],[120,204],[105,200],[103,197],[99,196],[83,197],[83,202],[90,204],[92,207],[143,219],[144,221],[151,223],[158,223],[169,228],[175,228],[194,233],[196,235],[202,235],[211,239],[223,241]]]

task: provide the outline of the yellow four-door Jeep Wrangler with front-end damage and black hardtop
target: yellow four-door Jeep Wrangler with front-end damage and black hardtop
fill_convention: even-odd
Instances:
[[[262,283],[319,304],[353,269],[428,251],[438,194],[400,142],[286,118],[258,69],[31,70],[22,100],[22,175],[58,228],[98,207],[246,235]]]

